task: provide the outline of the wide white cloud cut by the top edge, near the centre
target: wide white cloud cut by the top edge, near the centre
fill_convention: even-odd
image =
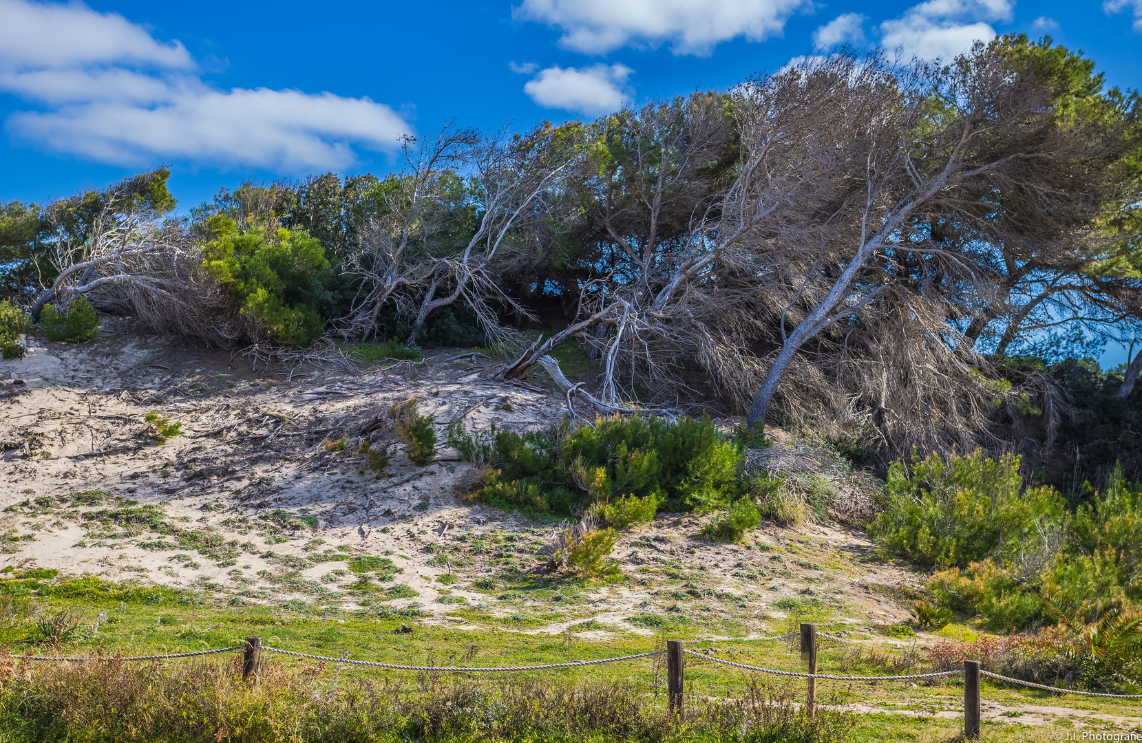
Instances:
[[[670,42],[675,54],[709,55],[723,41],[764,41],[810,0],[523,0],[516,18],[562,29],[561,43],[605,54],[628,43]]]

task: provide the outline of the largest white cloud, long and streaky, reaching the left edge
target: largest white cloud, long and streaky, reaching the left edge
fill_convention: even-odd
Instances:
[[[0,0],[0,91],[39,104],[11,114],[23,142],[99,162],[156,160],[301,173],[392,151],[408,123],[369,98],[219,90],[182,43],[82,3]]]

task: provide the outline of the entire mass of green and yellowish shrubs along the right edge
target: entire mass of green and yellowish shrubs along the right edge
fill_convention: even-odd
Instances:
[[[887,506],[869,533],[939,570],[928,590],[943,606],[998,629],[1029,624],[1043,599],[1091,621],[1142,604],[1142,486],[1111,473],[1070,515],[1051,487],[1024,486],[1019,459],[976,452],[893,466]]]

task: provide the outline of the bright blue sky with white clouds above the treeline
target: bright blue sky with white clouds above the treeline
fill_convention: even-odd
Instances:
[[[830,45],[948,58],[1012,31],[1142,87],[1142,0],[0,0],[0,200],[166,163],[188,208],[243,178],[388,171],[400,135],[450,119],[593,118]]]

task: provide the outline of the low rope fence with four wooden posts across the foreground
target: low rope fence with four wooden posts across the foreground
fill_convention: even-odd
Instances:
[[[691,657],[700,657],[706,661],[713,661],[714,663],[718,663],[722,665],[729,665],[746,671],[753,671],[756,673],[769,673],[772,676],[804,678],[806,679],[806,685],[807,685],[805,710],[807,711],[810,717],[813,716],[815,709],[815,694],[817,694],[818,679],[829,680],[829,681],[908,681],[915,679],[947,678],[951,676],[963,675],[964,676],[964,736],[967,738],[976,738],[980,736],[981,677],[987,677],[1008,684],[1018,684],[1021,686],[1027,686],[1035,689],[1042,689],[1045,692],[1053,692],[1056,694],[1078,694],[1080,696],[1096,696],[1096,697],[1117,698],[1117,700],[1142,698],[1142,694],[1102,694],[1097,692],[1081,692],[1078,689],[1067,689],[1067,688],[1059,688],[1055,686],[1047,686],[1044,684],[1035,684],[1031,681],[1024,681],[1022,679],[1000,676],[999,673],[992,673],[991,671],[984,671],[980,668],[979,661],[966,661],[966,660],[964,661],[963,669],[957,669],[952,671],[935,671],[932,673],[911,673],[902,676],[835,676],[829,673],[818,673],[817,645],[819,638],[835,640],[839,643],[846,643],[846,644],[853,644],[853,640],[846,640],[841,637],[834,637],[831,635],[825,635],[823,632],[818,632],[817,625],[807,622],[801,625],[801,632],[779,635],[777,637],[764,637],[758,639],[777,640],[777,639],[785,639],[798,636],[801,637],[802,657],[807,663],[809,667],[807,672],[781,671],[772,668],[763,668],[761,665],[750,665],[748,663],[735,663],[733,661],[726,661],[719,657],[715,657],[709,653],[686,649],[683,647],[683,643],[681,640],[667,640],[666,649],[651,651],[650,653],[636,653],[634,655],[620,655],[618,657],[603,657],[594,661],[572,661],[570,663],[546,663],[542,665],[517,665],[517,667],[492,667],[492,668],[452,667],[452,665],[402,665],[395,663],[378,663],[376,661],[357,661],[346,657],[345,655],[343,655],[341,657],[332,657],[329,655],[314,655],[311,653],[298,653],[295,651],[287,651],[280,647],[271,647],[268,645],[262,645],[260,637],[248,637],[246,638],[244,645],[235,645],[232,647],[219,647],[209,651],[195,651],[192,653],[166,653],[162,655],[132,655],[132,656],[90,655],[80,657],[61,657],[61,656],[43,656],[43,655],[7,655],[7,657],[21,659],[24,661],[63,661],[63,662],[163,661],[170,659],[195,657],[201,655],[211,655],[215,653],[228,653],[233,651],[242,651],[242,678],[256,679],[258,665],[260,664],[262,651],[266,651],[268,653],[278,653],[280,655],[289,655],[292,657],[305,657],[314,661],[328,661],[330,663],[338,663],[338,664],[346,663],[349,665],[361,665],[365,668],[388,669],[395,671],[426,671],[426,672],[435,671],[441,673],[512,673],[520,671],[545,671],[552,669],[600,665],[603,663],[619,663],[624,661],[634,661],[642,657],[652,657],[665,654],[668,706],[670,713],[676,716],[678,719],[683,717],[683,711],[684,711],[683,669],[685,665],[684,657],[686,655],[690,655]]]

